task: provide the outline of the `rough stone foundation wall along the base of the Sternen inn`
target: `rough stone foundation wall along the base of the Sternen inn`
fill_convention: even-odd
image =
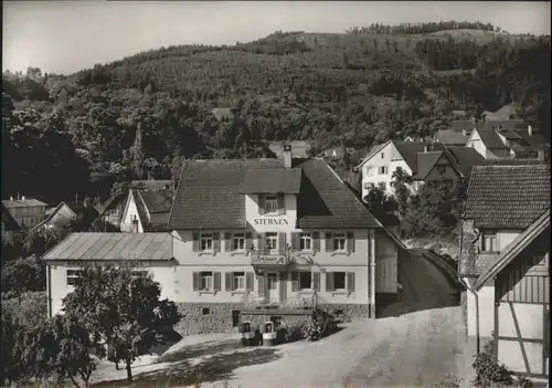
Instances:
[[[310,317],[310,312],[305,310],[263,310],[251,312],[238,303],[177,303],[179,313],[184,317],[174,326],[180,335],[224,333],[233,329],[233,311],[240,312],[240,322],[248,321],[261,324],[270,321],[272,316],[282,317],[282,322],[295,326]],[[329,314],[355,319],[370,317],[369,304],[320,304],[319,307]]]

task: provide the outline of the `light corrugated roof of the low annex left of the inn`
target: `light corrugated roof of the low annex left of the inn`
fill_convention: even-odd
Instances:
[[[171,260],[169,233],[72,233],[43,260]]]

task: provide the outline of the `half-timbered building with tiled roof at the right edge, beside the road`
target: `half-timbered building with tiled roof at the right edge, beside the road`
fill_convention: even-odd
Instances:
[[[461,221],[468,335],[517,373],[549,376],[550,166],[475,167]]]

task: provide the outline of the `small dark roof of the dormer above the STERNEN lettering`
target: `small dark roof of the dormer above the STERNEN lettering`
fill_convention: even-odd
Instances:
[[[251,169],[240,190],[241,193],[299,193],[301,186],[301,170],[286,169]]]

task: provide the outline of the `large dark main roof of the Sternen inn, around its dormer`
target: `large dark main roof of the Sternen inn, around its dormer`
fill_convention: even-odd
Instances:
[[[284,169],[280,159],[188,160],[182,168],[169,229],[244,229],[248,170]],[[321,159],[296,164],[304,179],[298,196],[297,227],[305,229],[382,228],[368,208]]]

